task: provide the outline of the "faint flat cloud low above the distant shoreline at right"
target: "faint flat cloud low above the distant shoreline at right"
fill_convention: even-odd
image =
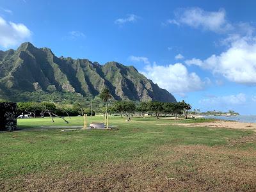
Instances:
[[[246,102],[246,95],[239,93],[237,95],[225,95],[220,97],[212,97],[210,99],[199,100],[199,103],[208,107],[219,107],[219,106],[236,106],[244,104]]]

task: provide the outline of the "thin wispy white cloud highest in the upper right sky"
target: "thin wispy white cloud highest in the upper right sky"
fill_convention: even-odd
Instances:
[[[207,12],[201,8],[184,8],[175,13],[175,19],[167,20],[169,24],[180,26],[185,24],[193,28],[223,33],[232,29],[232,25],[227,21],[225,10],[218,12]]]

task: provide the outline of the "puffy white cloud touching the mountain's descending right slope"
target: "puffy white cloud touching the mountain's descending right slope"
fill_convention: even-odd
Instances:
[[[148,79],[157,83],[159,87],[170,93],[195,92],[204,89],[205,83],[194,72],[189,73],[186,66],[181,63],[174,65],[147,65],[144,74]]]

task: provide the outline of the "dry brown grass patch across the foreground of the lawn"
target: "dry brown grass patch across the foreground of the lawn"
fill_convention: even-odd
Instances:
[[[92,172],[49,170],[2,191],[255,191],[256,152],[203,145],[163,145],[154,156],[93,166]],[[150,159],[150,160],[148,160]],[[58,173],[59,176],[56,176]]]

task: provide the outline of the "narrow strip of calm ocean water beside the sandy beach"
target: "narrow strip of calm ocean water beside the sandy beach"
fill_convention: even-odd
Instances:
[[[231,120],[236,122],[256,123],[256,115],[234,115],[234,116],[204,115],[204,118],[215,118],[220,120]]]

